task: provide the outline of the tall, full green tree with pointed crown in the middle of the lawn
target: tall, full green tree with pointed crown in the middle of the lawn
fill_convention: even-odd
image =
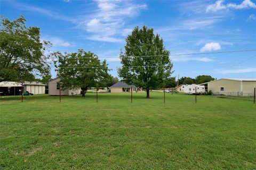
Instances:
[[[120,54],[122,67],[119,77],[128,84],[142,87],[147,92],[164,86],[171,76],[172,63],[170,52],[164,47],[163,39],[154,34],[153,28],[135,27],[127,36],[125,51]]]

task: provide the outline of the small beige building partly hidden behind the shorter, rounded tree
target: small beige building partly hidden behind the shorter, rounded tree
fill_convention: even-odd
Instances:
[[[48,86],[49,86],[49,95],[60,95],[60,82],[61,78],[60,77],[56,77],[51,79],[48,82]],[[66,90],[62,90],[61,88],[61,95],[77,95],[77,94],[81,94],[81,89],[66,89]]]

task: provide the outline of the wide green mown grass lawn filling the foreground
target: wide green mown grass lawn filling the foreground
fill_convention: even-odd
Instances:
[[[150,95],[1,98],[0,169],[256,169],[256,104]]]

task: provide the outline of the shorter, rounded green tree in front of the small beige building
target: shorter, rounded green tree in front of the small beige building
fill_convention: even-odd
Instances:
[[[76,53],[54,52],[54,62],[58,76],[61,77],[61,88],[81,88],[85,96],[88,87],[104,87],[111,79],[106,60],[100,61],[92,52],[78,50]]]

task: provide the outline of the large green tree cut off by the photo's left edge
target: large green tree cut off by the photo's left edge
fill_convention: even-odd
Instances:
[[[1,17],[0,82],[31,81],[50,72],[44,52],[51,44],[41,41],[39,28],[26,27],[25,22],[23,16],[13,21]]]

